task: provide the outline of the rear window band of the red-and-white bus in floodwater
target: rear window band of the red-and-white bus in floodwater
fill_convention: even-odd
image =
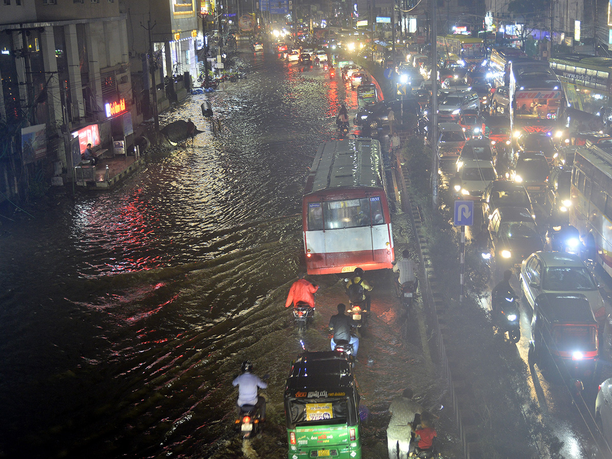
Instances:
[[[384,223],[386,222],[381,196],[308,203],[309,231],[338,230]]]

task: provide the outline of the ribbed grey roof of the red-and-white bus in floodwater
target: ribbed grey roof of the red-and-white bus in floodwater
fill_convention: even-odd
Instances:
[[[339,187],[384,188],[383,160],[378,140],[335,140],[319,146],[304,194]]]

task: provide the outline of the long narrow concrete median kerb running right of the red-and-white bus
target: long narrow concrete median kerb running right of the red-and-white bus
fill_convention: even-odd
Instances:
[[[405,166],[401,166],[399,159],[397,167],[398,170],[401,170],[402,172],[400,176],[401,186],[403,187],[403,196],[407,196],[409,198],[408,172],[406,171]],[[446,304],[439,294],[439,289],[441,287],[439,286],[438,279],[435,276],[435,269],[431,267],[431,260],[429,259],[429,242],[422,234],[420,211],[416,204],[412,202],[402,202],[402,208],[405,212],[409,212],[409,215],[411,215],[412,226],[419,238],[419,257],[421,271],[424,273],[424,279],[423,282],[420,282],[420,288],[422,289],[422,297],[430,309],[431,319],[433,320],[435,332],[438,337],[437,341],[442,371],[444,373],[444,377],[449,381],[451,403],[457,419],[457,425],[463,446],[463,453],[466,459],[480,459],[482,457],[482,450],[480,449],[478,443],[478,432],[474,427],[476,424],[475,416],[474,412],[472,412],[472,410],[469,408],[474,395],[471,392],[471,388],[465,381],[453,378],[451,363],[452,354],[450,356],[447,354],[447,349],[444,345],[444,335],[446,335],[446,332],[448,331],[446,321],[443,319]]]

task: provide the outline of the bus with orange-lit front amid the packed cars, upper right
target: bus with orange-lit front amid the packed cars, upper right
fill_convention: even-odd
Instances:
[[[565,95],[548,62],[510,61],[509,100],[513,138],[525,132],[562,135]]]

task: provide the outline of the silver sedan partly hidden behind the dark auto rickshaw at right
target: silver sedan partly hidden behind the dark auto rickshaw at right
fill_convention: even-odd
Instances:
[[[542,293],[583,294],[603,331],[608,313],[599,284],[578,255],[566,252],[535,252],[524,259],[519,276],[524,305],[534,307]]]

